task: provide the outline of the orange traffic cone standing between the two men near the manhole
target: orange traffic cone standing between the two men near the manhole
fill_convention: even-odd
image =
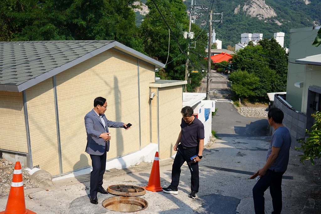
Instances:
[[[158,157],[158,151],[155,154],[151,175],[149,176],[147,186],[144,186],[146,190],[152,192],[160,192],[162,188],[160,186],[160,161]]]

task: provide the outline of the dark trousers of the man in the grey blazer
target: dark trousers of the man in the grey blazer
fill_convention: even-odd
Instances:
[[[102,186],[102,179],[106,170],[107,146],[104,154],[90,155],[92,171],[90,173],[90,196],[97,196],[98,187]]]

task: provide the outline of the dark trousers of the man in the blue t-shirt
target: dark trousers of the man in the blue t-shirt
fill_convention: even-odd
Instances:
[[[265,214],[264,212],[264,192],[270,187],[272,197],[273,212],[280,214],[282,210],[282,175],[284,172],[274,172],[268,169],[253,187],[253,201],[255,214]]]

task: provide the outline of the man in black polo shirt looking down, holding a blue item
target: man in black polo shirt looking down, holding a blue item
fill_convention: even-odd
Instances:
[[[197,155],[194,159],[194,163],[189,165],[189,171],[191,172],[191,193],[188,197],[196,198],[196,193],[199,188],[199,176],[198,176],[198,161],[202,159],[203,147],[204,147],[204,125],[194,116],[193,109],[189,106],[182,108],[182,123],[181,131],[178,135],[178,139],[174,146],[176,153],[174,163],[172,166],[172,182],[168,188],[162,188],[165,193],[178,194],[179,176],[181,173],[181,166],[186,161],[189,163],[190,158]],[[180,144],[178,145],[178,143]]]

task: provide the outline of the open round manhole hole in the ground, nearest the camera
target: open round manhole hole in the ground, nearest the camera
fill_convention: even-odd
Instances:
[[[135,196],[115,196],[102,201],[102,206],[108,210],[118,212],[136,212],[148,207],[148,202]]]

